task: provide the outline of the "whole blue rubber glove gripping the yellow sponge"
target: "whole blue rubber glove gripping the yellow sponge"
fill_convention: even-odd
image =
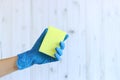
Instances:
[[[34,46],[31,50],[28,50],[24,53],[21,53],[18,55],[18,59],[16,61],[16,65],[19,70],[27,68],[32,66],[33,64],[44,64],[44,63],[50,63],[60,60],[60,56],[62,55],[62,50],[65,48],[64,41],[68,38],[68,35],[66,35],[63,42],[60,42],[60,48],[56,47],[56,53],[55,57],[52,58],[46,54],[43,54],[42,52],[39,52],[39,48],[41,46],[41,43],[44,39],[44,36],[46,35],[48,29],[45,29],[44,32],[41,34],[39,39],[36,41]]]

